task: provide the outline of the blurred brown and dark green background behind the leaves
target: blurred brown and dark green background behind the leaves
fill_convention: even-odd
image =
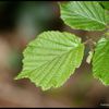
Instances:
[[[14,81],[22,70],[23,50],[44,31],[70,32],[83,41],[102,33],[71,29],[60,19],[55,1],[0,1],[0,107],[102,107],[109,87],[93,77],[85,49],[80,69],[57,89],[43,92],[29,80]]]

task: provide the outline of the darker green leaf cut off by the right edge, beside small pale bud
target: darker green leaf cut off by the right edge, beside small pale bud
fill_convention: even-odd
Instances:
[[[101,38],[93,58],[93,73],[105,85],[109,85],[109,39]]]

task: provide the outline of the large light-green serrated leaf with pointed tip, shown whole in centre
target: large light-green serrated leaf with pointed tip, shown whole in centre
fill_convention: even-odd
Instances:
[[[59,87],[80,66],[83,53],[84,45],[75,35],[44,32],[24,50],[23,70],[16,80],[27,77],[44,90]]]

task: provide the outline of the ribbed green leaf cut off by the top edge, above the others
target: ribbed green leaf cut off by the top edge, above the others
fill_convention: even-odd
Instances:
[[[104,31],[106,13],[96,1],[70,1],[60,4],[61,19],[75,29]]]

